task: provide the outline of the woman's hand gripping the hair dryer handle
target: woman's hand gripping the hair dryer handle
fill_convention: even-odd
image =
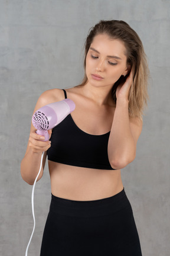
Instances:
[[[49,140],[44,142],[43,140],[45,139],[42,135],[38,135],[36,133],[36,129],[32,130],[30,132],[30,137],[29,137],[29,147],[32,149],[32,152],[34,153],[42,153],[44,151],[47,151],[50,146],[51,146],[51,137],[52,129],[48,130],[49,134]]]

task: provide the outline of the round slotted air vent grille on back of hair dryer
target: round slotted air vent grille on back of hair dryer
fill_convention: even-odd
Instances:
[[[36,111],[32,117],[32,124],[40,130],[48,130],[49,122],[47,116],[41,111]]]

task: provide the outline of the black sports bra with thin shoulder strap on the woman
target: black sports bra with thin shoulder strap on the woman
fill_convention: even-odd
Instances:
[[[63,89],[65,98],[66,91]],[[107,155],[110,132],[90,135],[74,123],[71,114],[53,128],[48,160],[76,167],[113,169]]]

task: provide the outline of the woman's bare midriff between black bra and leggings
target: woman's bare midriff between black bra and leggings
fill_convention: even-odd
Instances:
[[[63,199],[89,201],[112,197],[123,190],[119,170],[103,170],[48,161],[51,193]]]

